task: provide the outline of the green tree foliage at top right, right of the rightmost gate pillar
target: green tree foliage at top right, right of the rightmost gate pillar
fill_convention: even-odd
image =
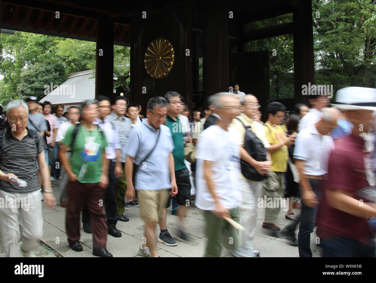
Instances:
[[[367,1],[312,1],[316,84],[334,85],[334,93],[348,86],[375,87],[372,7]]]

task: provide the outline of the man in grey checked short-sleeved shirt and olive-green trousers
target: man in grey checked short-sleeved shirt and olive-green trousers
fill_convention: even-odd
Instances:
[[[111,122],[114,126],[115,131],[118,133],[119,146],[120,146],[120,158],[121,168],[123,170],[123,175],[121,176],[117,187],[116,187],[116,204],[117,204],[117,217],[119,221],[127,222],[129,218],[124,215],[125,210],[125,191],[127,188],[127,179],[125,175],[125,162],[127,160],[126,147],[129,139],[130,132],[132,131],[132,121],[125,116],[127,111],[127,99],[124,96],[115,97],[112,103],[112,112],[107,117],[105,121]],[[128,199],[135,206],[138,205],[133,202],[133,199]]]

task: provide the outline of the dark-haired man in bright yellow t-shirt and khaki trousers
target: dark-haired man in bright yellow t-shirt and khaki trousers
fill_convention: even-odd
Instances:
[[[279,102],[271,102],[267,107],[268,120],[264,123],[266,137],[270,143],[267,148],[271,155],[272,166],[268,178],[263,181],[264,195],[267,202],[273,201],[273,207],[265,205],[265,220],[262,228],[270,230],[277,236],[280,228],[274,225],[285,195],[285,172],[287,171],[288,146],[294,144],[294,136],[287,137],[285,130],[280,126],[285,117],[286,107]],[[271,198],[271,199],[269,199]]]

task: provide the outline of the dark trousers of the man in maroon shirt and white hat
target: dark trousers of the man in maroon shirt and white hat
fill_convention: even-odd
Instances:
[[[323,257],[375,257],[373,239],[369,239],[371,246],[352,238],[332,237],[321,239]]]

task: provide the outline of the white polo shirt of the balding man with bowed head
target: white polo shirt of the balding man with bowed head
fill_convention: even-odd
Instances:
[[[329,155],[334,149],[330,135],[321,135],[315,127],[316,122],[308,126],[295,138],[294,159],[304,161],[306,175],[321,176],[328,172]]]

